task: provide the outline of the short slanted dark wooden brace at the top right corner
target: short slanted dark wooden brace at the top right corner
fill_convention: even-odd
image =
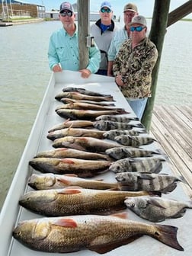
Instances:
[[[167,27],[174,24],[176,21],[181,20],[181,18],[184,18],[188,14],[192,12],[192,0],[187,1],[184,5],[181,5],[174,11],[171,11],[170,14],[168,14],[168,24]]]

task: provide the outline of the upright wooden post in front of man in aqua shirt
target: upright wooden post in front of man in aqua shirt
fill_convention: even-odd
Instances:
[[[88,66],[88,46],[86,38],[90,34],[89,3],[90,0],[78,0],[79,69],[85,69]]]

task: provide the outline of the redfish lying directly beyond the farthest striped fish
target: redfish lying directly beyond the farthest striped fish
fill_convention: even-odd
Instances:
[[[56,110],[56,114],[59,114],[63,118],[70,118],[71,120],[95,120],[101,114],[126,114],[126,111],[58,109]]]

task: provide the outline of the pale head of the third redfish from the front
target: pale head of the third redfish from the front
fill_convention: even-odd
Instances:
[[[32,174],[29,178],[28,185],[37,190],[53,187],[56,184],[56,177],[52,173],[48,174]]]

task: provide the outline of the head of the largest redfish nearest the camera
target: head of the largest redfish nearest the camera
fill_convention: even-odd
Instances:
[[[44,219],[30,219],[20,222],[13,230],[13,237],[24,245],[37,248],[38,243],[43,242],[43,239],[51,231],[50,222]]]

